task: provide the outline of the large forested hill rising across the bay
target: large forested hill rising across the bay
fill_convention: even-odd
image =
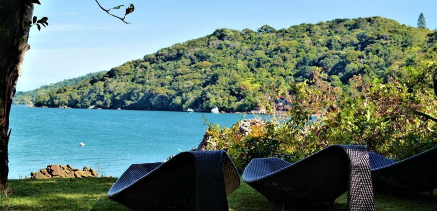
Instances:
[[[39,96],[36,105],[73,108],[248,111],[276,87],[302,81],[314,66],[331,83],[385,80],[400,67],[437,58],[436,33],[381,18],[336,19],[256,32],[219,29],[163,48],[106,74]]]

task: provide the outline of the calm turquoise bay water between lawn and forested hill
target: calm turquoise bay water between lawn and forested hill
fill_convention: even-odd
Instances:
[[[205,116],[210,123],[228,127],[242,118],[239,114]],[[29,176],[54,163],[76,168],[98,164],[104,175],[117,177],[132,163],[163,161],[178,149],[197,147],[206,126],[201,113],[13,105],[11,128],[9,178]]]

